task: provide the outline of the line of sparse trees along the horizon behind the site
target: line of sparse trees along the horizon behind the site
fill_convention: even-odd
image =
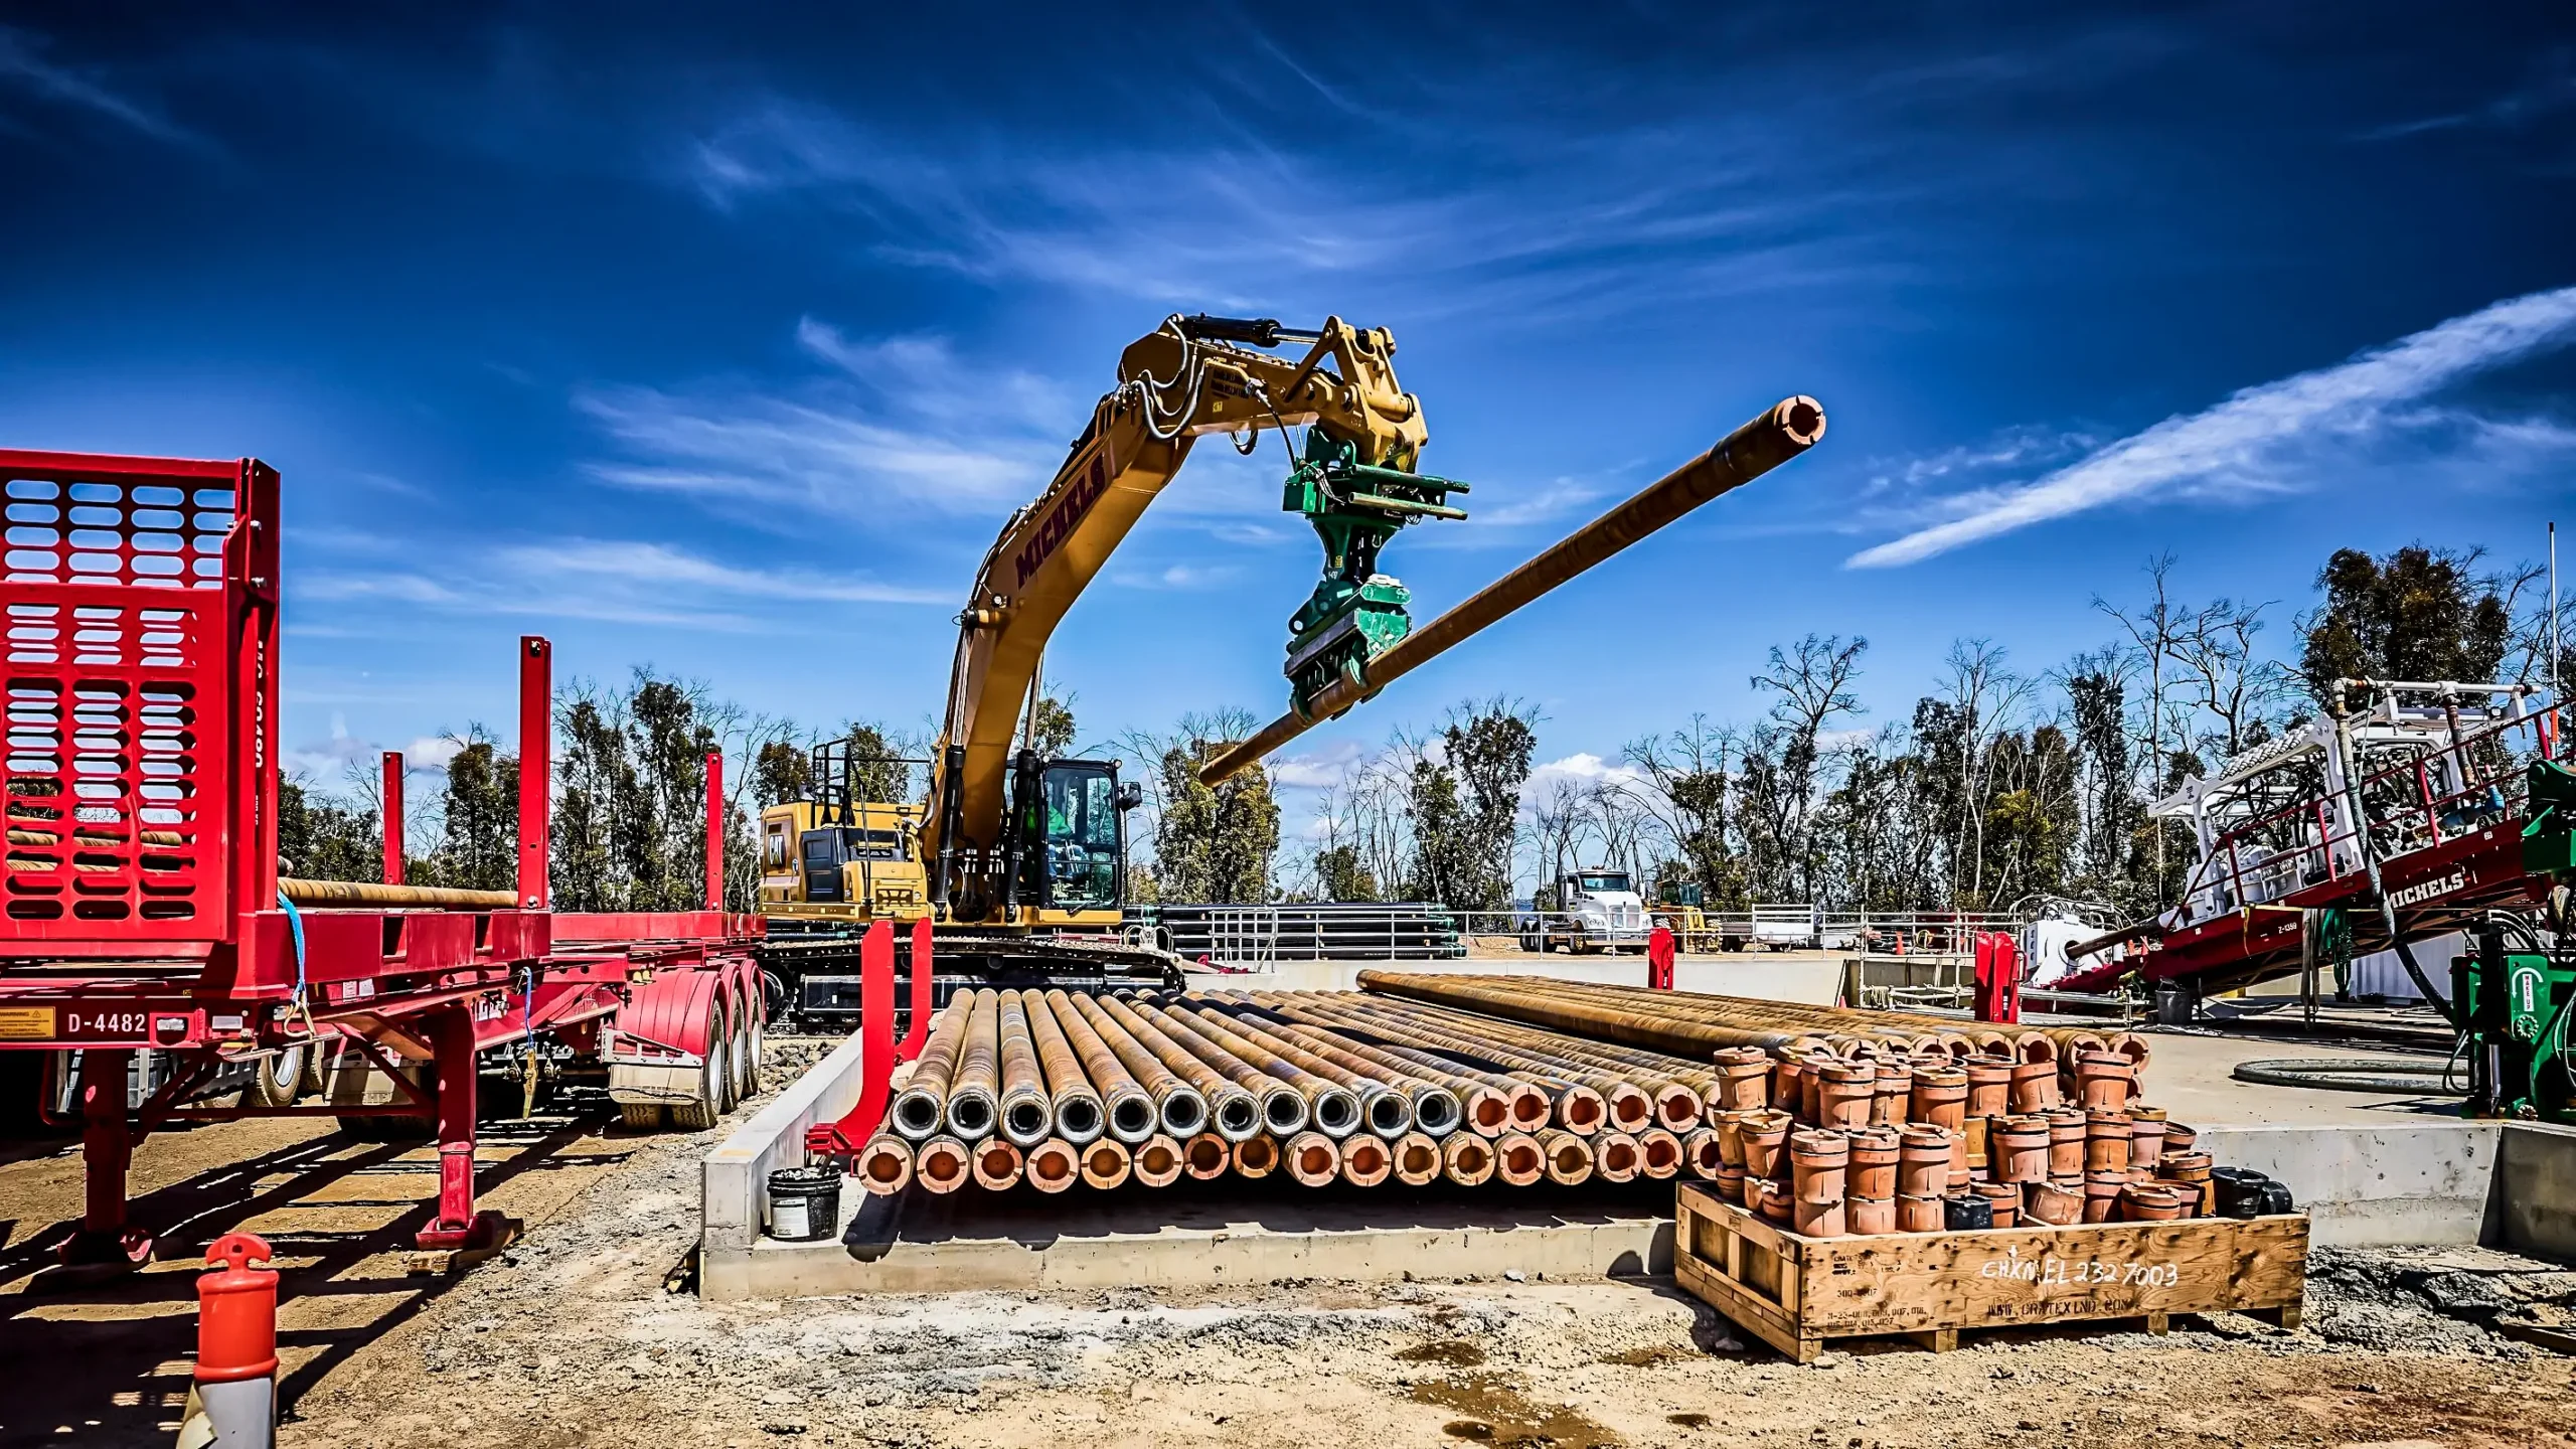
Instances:
[[[1994,639],[1960,639],[1932,691],[1870,719],[1868,639],[1806,634],[1767,652],[1749,686],[1762,714],[1690,719],[1625,743],[1618,761],[1546,768],[1535,706],[1461,701],[1435,730],[1399,730],[1329,779],[1291,766],[1206,786],[1198,768],[1252,732],[1244,709],[1126,730],[1087,745],[1146,786],[1128,895],[1139,902],[1427,900],[1458,910],[1546,902],[1574,866],[1692,882],[1713,908],[1757,900],[1829,910],[2007,910],[2071,897],[2110,910],[2172,902],[2192,866],[2179,822],[2148,802],[2308,719],[2344,678],[2548,678],[2537,570],[2494,570],[2473,549],[2336,552],[2316,601],[2187,601],[2174,559],[2146,562],[2128,601],[2094,598],[2105,642],[2022,670]],[[2576,657],[2561,660],[2576,676]],[[706,753],[726,761],[726,902],[757,902],[752,820],[817,781],[811,750],[853,740],[860,799],[925,799],[927,730],[853,722],[832,732],[752,714],[703,683],[634,670],[623,688],[574,683],[556,699],[554,897],[564,910],[698,905]],[[1074,750],[1072,699],[1041,696],[1033,743]],[[507,890],[515,874],[518,758],[482,730],[453,748],[412,810],[404,877]],[[1582,758],[1589,761],[1589,758]],[[1319,784],[1288,833],[1288,784]],[[281,786],[289,874],[379,879],[376,776],[343,789]]]

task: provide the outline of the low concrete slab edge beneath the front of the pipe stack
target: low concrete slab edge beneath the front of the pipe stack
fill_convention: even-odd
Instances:
[[[747,1253],[703,1253],[698,1292],[747,1299],[1672,1271],[1672,1183],[1386,1191],[1270,1178],[1061,1196],[1025,1186],[891,1199],[845,1191],[842,1212],[835,1243],[762,1238]]]

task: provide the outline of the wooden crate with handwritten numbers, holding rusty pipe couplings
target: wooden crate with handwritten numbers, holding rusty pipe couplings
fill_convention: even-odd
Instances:
[[[1747,1333],[1806,1364],[1826,1338],[1901,1333],[1945,1351],[1960,1328],[2259,1312],[2298,1328],[2308,1217],[2195,1217],[1798,1238],[1682,1183],[1672,1271]]]

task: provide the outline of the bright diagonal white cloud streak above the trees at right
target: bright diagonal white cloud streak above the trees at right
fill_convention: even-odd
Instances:
[[[2300,487],[2303,443],[2349,438],[2473,374],[2576,340],[2576,286],[2452,317],[2347,364],[2249,387],[2120,438],[2038,482],[1947,500],[1942,523],[1852,554],[1847,567],[1919,562],[2014,529],[2156,495],[2254,498]]]

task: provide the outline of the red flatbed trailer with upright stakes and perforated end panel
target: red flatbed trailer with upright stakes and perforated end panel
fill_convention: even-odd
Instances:
[[[479,1248],[507,1227],[474,1209],[482,1052],[598,1057],[631,1122],[662,1104],[711,1119],[755,1085],[762,920],[721,910],[714,776],[706,910],[551,910],[546,639],[520,639],[515,905],[296,908],[278,887],[276,469],[0,449],[0,1049],[80,1052],[88,1201],[64,1261],[149,1256],[126,1165],[173,1119],[433,1119],[420,1245]],[[227,1067],[299,1047],[374,1065],[392,1098],[201,1101]],[[137,1109],[139,1049],[175,1070]]]

